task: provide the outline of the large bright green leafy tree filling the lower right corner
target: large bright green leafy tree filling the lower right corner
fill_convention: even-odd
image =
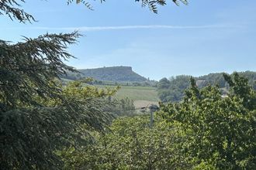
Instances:
[[[224,78],[228,97],[221,97],[218,87],[199,90],[192,79],[181,103],[161,105],[161,115],[182,128],[181,151],[195,169],[255,167],[255,90],[237,73]]]

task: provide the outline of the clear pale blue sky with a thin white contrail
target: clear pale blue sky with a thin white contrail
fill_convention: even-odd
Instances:
[[[0,37],[22,42],[45,33],[83,36],[69,46],[78,69],[132,66],[150,80],[181,74],[256,71],[256,1],[171,1],[158,14],[134,0],[99,0],[93,11],[66,0],[26,0],[22,8],[36,22],[20,23],[0,15]]]

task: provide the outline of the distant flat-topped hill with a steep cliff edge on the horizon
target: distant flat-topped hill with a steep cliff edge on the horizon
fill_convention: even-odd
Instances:
[[[82,77],[93,77],[95,80],[113,82],[144,82],[147,79],[133,72],[130,66],[110,66],[97,69],[82,69],[80,73],[67,73],[64,78],[78,80]]]

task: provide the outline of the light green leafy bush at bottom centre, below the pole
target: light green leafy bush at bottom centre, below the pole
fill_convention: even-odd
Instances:
[[[149,117],[115,120],[108,134],[82,150],[67,148],[59,154],[66,169],[180,169],[189,168],[175,148],[175,130],[161,119],[149,128]]]

